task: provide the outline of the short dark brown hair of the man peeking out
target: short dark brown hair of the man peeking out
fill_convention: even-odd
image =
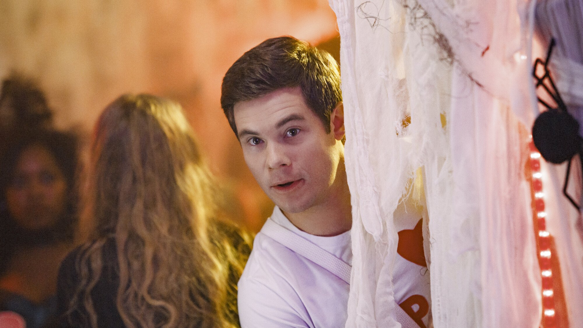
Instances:
[[[340,70],[332,55],[290,36],[267,39],[243,54],[224,75],[220,97],[235,135],[236,103],[296,86],[330,132],[330,115],[342,101]]]

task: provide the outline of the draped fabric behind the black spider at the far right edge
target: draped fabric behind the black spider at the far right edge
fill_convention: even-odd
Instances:
[[[550,69],[568,111],[579,121],[583,136],[583,0],[542,0],[536,5],[536,29],[543,48],[554,38]],[[566,163],[547,164],[547,229],[555,238],[561,267],[568,320],[583,322],[583,218],[563,196]],[[571,166],[568,194],[581,204],[583,189],[580,159]]]

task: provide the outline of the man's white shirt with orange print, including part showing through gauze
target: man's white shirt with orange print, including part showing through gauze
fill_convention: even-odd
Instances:
[[[395,301],[420,327],[431,326],[429,271],[424,259],[423,212],[399,205],[399,246],[393,271]],[[352,265],[350,231],[333,237],[310,235],[278,207],[268,220],[310,240]],[[344,327],[349,284],[262,232],[238,282],[241,327]]]

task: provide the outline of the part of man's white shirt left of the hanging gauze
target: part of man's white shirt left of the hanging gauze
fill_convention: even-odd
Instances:
[[[303,232],[278,207],[270,220],[352,264],[350,231],[333,237]],[[241,327],[343,327],[349,285],[259,232],[238,282]]]

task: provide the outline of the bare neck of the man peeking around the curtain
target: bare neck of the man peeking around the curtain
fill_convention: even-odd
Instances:
[[[336,193],[333,193],[322,204],[314,205],[299,213],[283,214],[301,231],[316,236],[336,236],[352,228],[352,207],[350,192],[346,182],[346,171],[343,165],[338,167],[339,183]]]

